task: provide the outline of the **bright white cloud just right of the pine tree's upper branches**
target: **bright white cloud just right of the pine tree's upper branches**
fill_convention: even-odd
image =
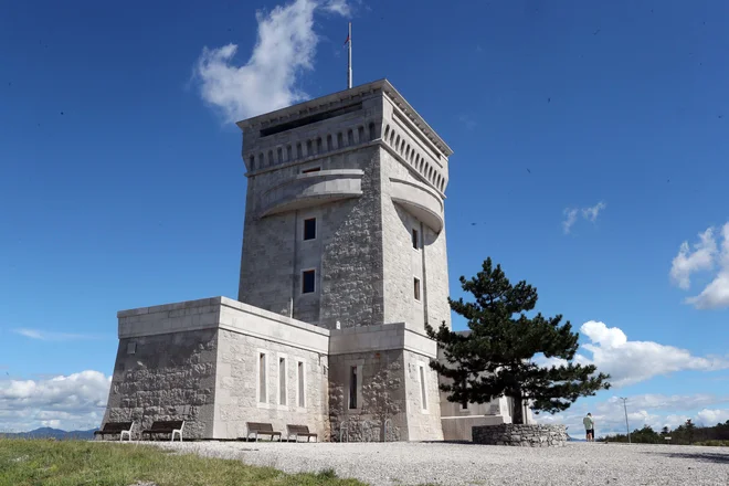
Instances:
[[[617,327],[590,320],[580,327],[580,332],[591,342],[583,344],[574,361],[578,364],[595,364],[601,372],[610,373],[613,387],[625,387],[661,374],[677,371],[716,371],[729,368],[729,360],[719,357],[698,357],[686,349],[665,346],[653,341],[628,341]],[[538,359],[539,364],[551,367],[563,364],[560,358]]]

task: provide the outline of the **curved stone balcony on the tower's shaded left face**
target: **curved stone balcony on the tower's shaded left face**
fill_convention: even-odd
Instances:
[[[362,196],[359,169],[320,170],[298,173],[268,189],[258,205],[261,216],[310,208]]]

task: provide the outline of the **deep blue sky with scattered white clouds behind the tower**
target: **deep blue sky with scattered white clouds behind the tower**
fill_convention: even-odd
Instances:
[[[418,4],[1,7],[0,429],[98,423],[117,310],[236,295],[231,119],[342,89],[347,20],[355,84],[455,151],[452,293],[492,256],[592,321],[580,352],[624,385],[553,420],[729,420],[729,4]]]

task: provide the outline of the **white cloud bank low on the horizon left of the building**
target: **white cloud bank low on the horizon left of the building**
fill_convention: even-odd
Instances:
[[[82,371],[41,380],[0,380],[0,431],[99,425],[112,377]]]

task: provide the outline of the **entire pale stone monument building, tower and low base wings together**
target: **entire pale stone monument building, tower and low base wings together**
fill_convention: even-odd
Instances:
[[[104,421],[246,422],[332,441],[471,440],[509,404],[450,403],[424,324],[451,325],[444,200],[452,150],[387,81],[237,126],[247,191],[237,300],[118,313]]]

